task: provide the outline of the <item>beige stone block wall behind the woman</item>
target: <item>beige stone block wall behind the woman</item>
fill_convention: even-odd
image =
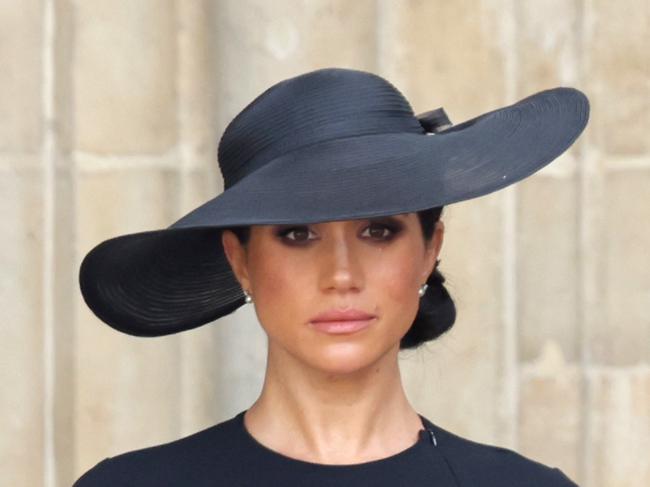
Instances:
[[[650,485],[649,19],[647,0],[0,0],[0,485],[70,485],[254,400],[251,307],[131,337],[85,306],[78,266],[220,192],[229,120],[325,66],[377,72],[455,122],[553,86],[588,94],[565,156],[447,209],[459,318],[401,364],[447,429],[583,486]]]

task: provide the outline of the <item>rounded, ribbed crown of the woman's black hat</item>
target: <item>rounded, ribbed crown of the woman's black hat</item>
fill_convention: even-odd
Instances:
[[[324,68],[283,80],[250,102],[218,147],[225,189],[274,158],[332,139],[422,133],[404,95],[365,71]]]

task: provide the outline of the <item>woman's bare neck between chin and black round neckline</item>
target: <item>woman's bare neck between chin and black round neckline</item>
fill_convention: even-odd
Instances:
[[[396,347],[349,373],[306,366],[269,346],[262,392],[245,415],[263,445],[315,463],[361,463],[412,446],[422,422],[402,385]]]

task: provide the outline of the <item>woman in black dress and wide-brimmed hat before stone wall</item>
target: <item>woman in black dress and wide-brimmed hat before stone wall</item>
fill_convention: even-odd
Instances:
[[[455,319],[437,269],[444,205],[531,175],[584,129],[556,88],[451,126],[388,81],[328,68],[273,85],[219,143],[225,191],[164,230],[109,239],[80,269],[110,326],[160,336],[254,303],[264,386],[211,428],[105,459],[75,484],[571,486],[409,403],[398,352]]]

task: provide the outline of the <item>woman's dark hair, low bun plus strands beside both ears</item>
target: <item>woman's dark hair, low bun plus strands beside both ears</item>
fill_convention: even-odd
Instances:
[[[422,235],[425,243],[433,238],[436,223],[442,214],[442,206],[428,208],[417,212]],[[246,245],[250,238],[249,226],[230,227],[242,245]],[[400,350],[417,348],[424,342],[435,340],[448,331],[456,321],[456,305],[444,286],[445,278],[435,269],[427,279],[427,288],[424,296],[420,298],[420,307],[413,324],[400,341]]]

